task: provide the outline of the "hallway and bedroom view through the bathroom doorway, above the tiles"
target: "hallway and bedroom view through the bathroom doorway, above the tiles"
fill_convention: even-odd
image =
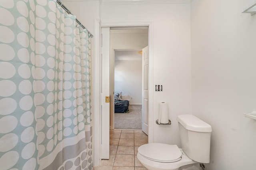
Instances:
[[[110,28],[110,129],[142,129],[142,49],[148,27]]]

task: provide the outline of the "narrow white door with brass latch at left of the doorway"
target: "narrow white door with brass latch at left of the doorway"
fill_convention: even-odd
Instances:
[[[110,119],[110,28],[102,28],[102,104],[101,104],[101,158],[109,159],[109,119]]]

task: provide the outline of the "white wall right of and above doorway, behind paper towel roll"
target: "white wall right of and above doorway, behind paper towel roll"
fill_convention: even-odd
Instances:
[[[190,4],[128,4],[102,5],[101,21],[153,22],[154,90],[163,85],[163,92],[154,92],[153,117],[154,142],[178,144],[180,139],[176,116],[191,113],[191,63],[190,63]],[[169,104],[172,125],[157,125],[158,103]]]

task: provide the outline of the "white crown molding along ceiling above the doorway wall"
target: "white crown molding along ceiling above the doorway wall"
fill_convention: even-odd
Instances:
[[[102,5],[120,4],[184,4],[192,0],[102,0]]]

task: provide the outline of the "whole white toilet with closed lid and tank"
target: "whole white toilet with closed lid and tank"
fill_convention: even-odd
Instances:
[[[201,170],[210,162],[212,127],[194,115],[177,117],[181,148],[164,143],[148,143],[138,148],[137,158],[148,170]]]

